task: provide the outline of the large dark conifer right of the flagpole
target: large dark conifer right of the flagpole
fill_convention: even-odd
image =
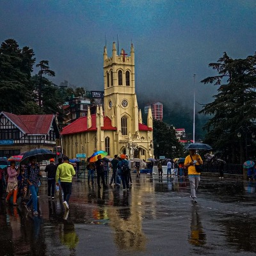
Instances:
[[[209,67],[218,75],[207,77],[201,83],[218,86],[218,93],[213,96],[214,101],[200,111],[211,116],[204,126],[208,132],[205,142],[223,152],[232,163],[242,162],[250,153],[253,155],[253,150],[249,150],[245,156],[244,148],[252,139],[250,133],[255,132],[256,55],[233,60],[224,52],[217,63],[210,63]],[[240,141],[237,132],[243,133]]]

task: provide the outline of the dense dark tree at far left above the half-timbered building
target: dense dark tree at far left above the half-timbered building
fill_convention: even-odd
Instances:
[[[34,99],[31,72],[35,54],[29,47],[20,49],[17,42],[8,39],[0,48],[0,109],[12,113],[26,113],[26,106]]]

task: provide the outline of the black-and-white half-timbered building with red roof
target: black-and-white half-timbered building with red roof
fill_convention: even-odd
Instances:
[[[52,150],[58,138],[54,115],[0,113],[0,157],[19,155],[33,148]]]

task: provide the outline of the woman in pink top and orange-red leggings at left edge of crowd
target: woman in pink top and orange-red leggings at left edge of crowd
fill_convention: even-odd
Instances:
[[[8,173],[8,183],[6,192],[6,203],[9,202],[10,197],[13,195],[13,205],[17,205],[17,193],[18,193],[18,180],[19,169],[15,168],[15,161],[10,162],[10,166],[7,169]]]

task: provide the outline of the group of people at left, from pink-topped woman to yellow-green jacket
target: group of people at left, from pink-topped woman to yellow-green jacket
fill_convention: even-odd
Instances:
[[[63,205],[68,211],[68,201],[72,192],[72,177],[76,175],[74,167],[69,163],[67,156],[58,159],[54,163],[50,159],[50,164],[45,168],[47,173],[48,198],[54,199],[56,188],[60,188],[63,196]],[[15,161],[10,161],[10,166],[0,170],[0,196],[6,204],[24,204],[28,212],[38,215],[38,188],[41,185],[42,172],[36,163],[36,157],[29,157],[29,164],[16,166]],[[6,191],[6,196],[5,192]]]

